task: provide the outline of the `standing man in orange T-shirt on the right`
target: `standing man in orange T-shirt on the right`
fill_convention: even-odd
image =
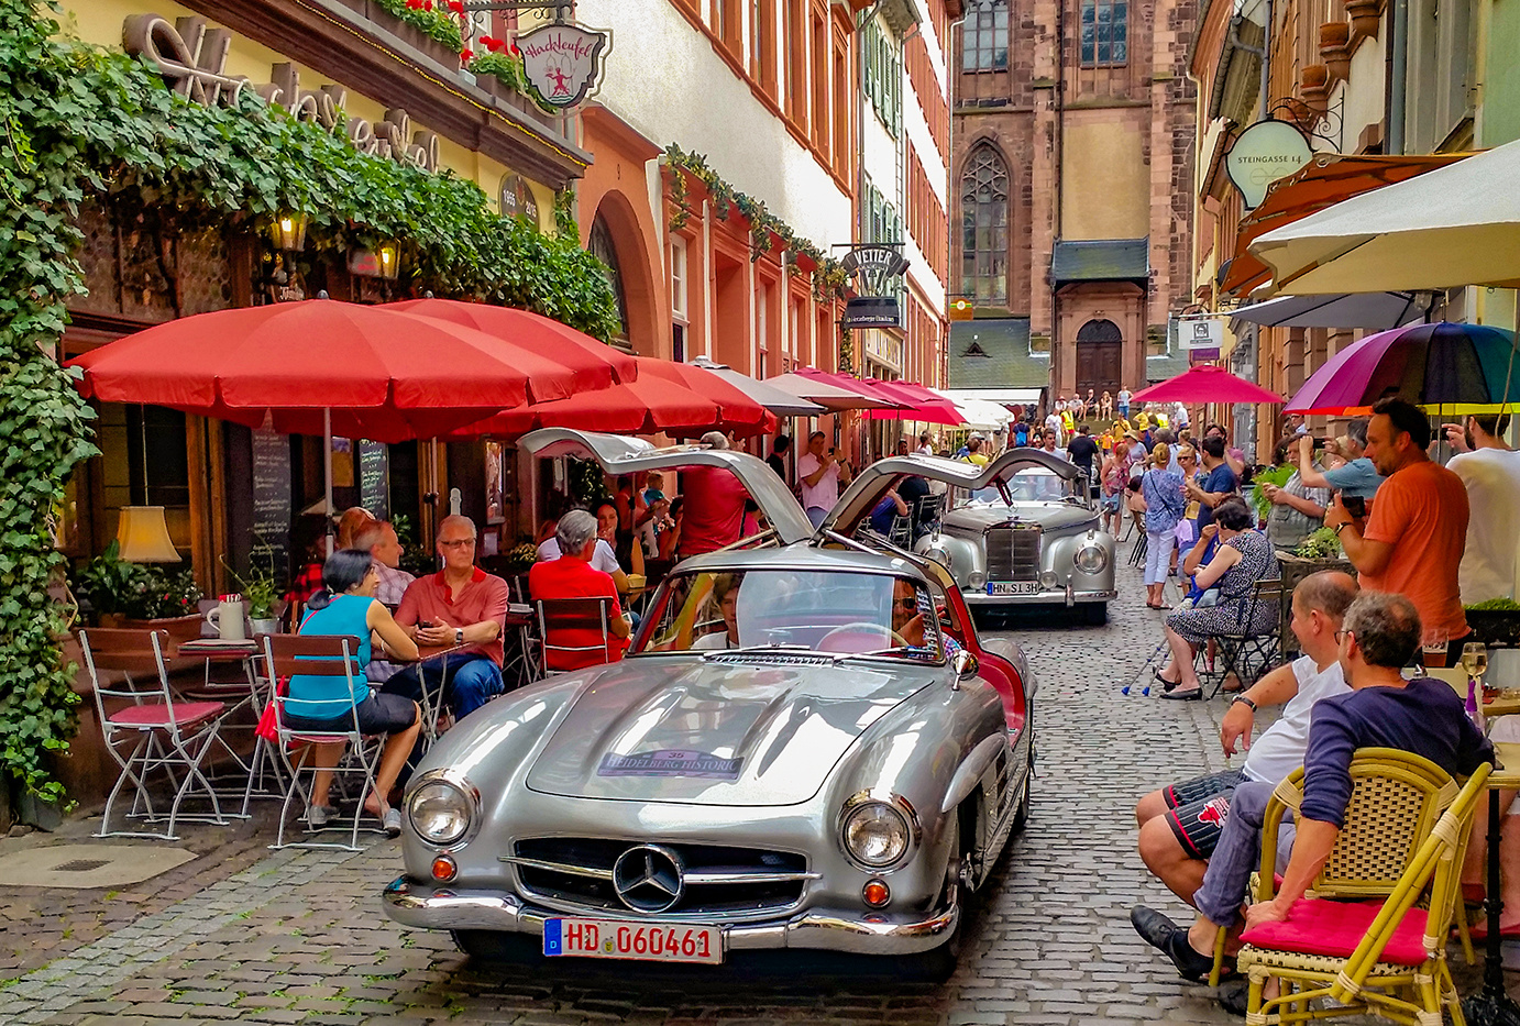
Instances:
[[[1366,458],[1386,480],[1366,526],[1351,518],[1341,492],[1325,512],[1325,526],[1339,535],[1362,590],[1408,596],[1426,638],[1446,634],[1446,664],[1456,666],[1470,634],[1456,582],[1467,546],[1467,489],[1426,454],[1429,444],[1430,421],[1418,406],[1382,400],[1366,426]]]

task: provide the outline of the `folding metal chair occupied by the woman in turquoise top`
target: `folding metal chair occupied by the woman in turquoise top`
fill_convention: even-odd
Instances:
[[[289,786],[286,787],[284,804],[280,807],[280,830],[271,847],[359,851],[359,819],[365,815],[365,796],[374,790],[375,766],[378,765],[378,745],[374,743],[375,739],[366,737],[359,728],[357,707],[360,698],[363,698],[363,695],[360,695],[360,689],[366,693],[369,689],[368,681],[365,681],[363,670],[359,667],[359,661],[356,658],[359,638],[353,635],[301,637],[296,634],[266,634],[263,637],[263,643],[271,681],[278,681],[281,678],[289,679],[296,673],[309,676],[340,676],[348,686],[348,698],[351,701],[350,727],[347,730],[296,730],[286,722],[286,716],[289,713],[299,716],[301,707],[309,702],[281,695],[278,686],[275,687],[272,699],[275,707],[275,733],[280,739],[280,752],[284,757],[286,771],[289,774]],[[315,745],[336,743],[342,743],[345,746],[345,754],[339,757],[337,765],[330,769],[334,783],[350,777],[362,780],[359,796],[354,800],[354,819],[350,828],[348,844],[313,841],[286,844],[286,819],[290,815],[290,803],[295,800],[296,793],[301,795],[302,815],[310,812],[312,798],[310,793],[301,786],[301,774],[310,772],[315,777],[318,772],[318,766],[307,765],[309,758],[316,751]],[[301,746],[301,751],[299,755],[292,760],[290,748],[296,745]]]

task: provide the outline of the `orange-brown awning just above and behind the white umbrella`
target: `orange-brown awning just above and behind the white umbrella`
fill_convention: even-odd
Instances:
[[[1435,154],[1429,157],[1342,157],[1318,154],[1307,167],[1272,182],[1266,199],[1240,219],[1230,274],[1221,289],[1228,295],[1246,295],[1266,284],[1272,272],[1251,252],[1251,243],[1266,233],[1301,220],[1360,193],[1401,182],[1415,175],[1446,167],[1465,154]],[[1344,289],[1342,292],[1350,292]]]

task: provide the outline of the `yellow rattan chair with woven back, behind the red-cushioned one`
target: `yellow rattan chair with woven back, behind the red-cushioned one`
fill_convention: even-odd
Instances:
[[[1456,798],[1456,784],[1427,758],[1395,748],[1362,748],[1351,758],[1351,801],[1345,825],[1324,869],[1304,897],[1386,897],[1409,859]],[[1251,877],[1251,900],[1268,901],[1275,892],[1277,833],[1283,816],[1304,800],[1304,771],[1295,769],[1268,801],[1262,830],[1262,868]],[[1214,941],[1210,986],[1219,985],[1225,933]]]

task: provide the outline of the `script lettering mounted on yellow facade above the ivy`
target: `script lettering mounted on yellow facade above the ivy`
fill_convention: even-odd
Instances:
[[[302,90],[293,64],[275,64],[269,68],[271,81],[261,85],[226,74],[233,33],[207,27],[205,18],[187,17],[169,24],[157,14],[134,14],[122,26],[122,46],[132,56],[147,58],[175,93],[202,106],[236,109],[242,91],[251,88],[264,102],[286,108],[298,122],[321,125],[347,138],[360,154],[438,170],[438,135],[412,132],[410,116],[398,106],[374,123],[348,117],[344,111],[348,90],[340,85]]]

